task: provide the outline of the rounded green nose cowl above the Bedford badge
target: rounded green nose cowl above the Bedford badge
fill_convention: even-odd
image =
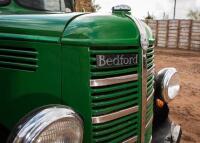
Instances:
[[[68,25],[62,43],[133,46],[139,45],[139,33],[136,25],[125,15],[86,14]]]

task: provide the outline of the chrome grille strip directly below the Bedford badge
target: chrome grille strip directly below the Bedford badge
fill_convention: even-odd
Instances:
[[[90,80],[90,87],[100,87],[135,80],[138,80],[138,74],[130,74],[125,76],[117,76],[103,79],[93,79]]]

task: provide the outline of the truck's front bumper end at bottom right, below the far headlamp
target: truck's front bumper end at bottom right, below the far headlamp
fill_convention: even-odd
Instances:
[[[166,120],[153,129],[152,143],[179,143],[182,130],[180,125],[176,125],[170,120]]]

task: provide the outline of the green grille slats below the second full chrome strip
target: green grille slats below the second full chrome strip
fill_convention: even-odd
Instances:
[[[102,124],[93,125],[94,142],[122,142],[131,137],[136,137],[138,133],[137,114],[128,116]]]

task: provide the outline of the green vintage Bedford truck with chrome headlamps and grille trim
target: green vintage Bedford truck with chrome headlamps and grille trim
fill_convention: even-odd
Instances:
[[[0,0],[0,142],[176,143],[180,85],[155,72],[154,38],[130,7]]]

